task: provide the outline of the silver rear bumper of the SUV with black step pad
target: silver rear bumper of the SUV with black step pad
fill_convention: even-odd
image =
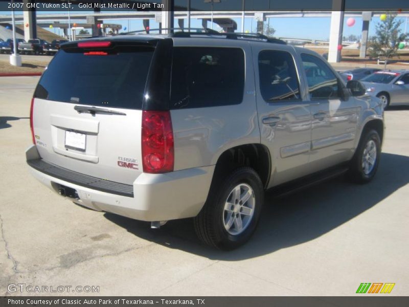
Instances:
[[[205,204],[214,165],[164,174],[142,173],[132,185],[103,181],[43,161],[35,145],[26,151],[33,176],[51,190],[73,188],[82,206],[141,221],[196,216]]]

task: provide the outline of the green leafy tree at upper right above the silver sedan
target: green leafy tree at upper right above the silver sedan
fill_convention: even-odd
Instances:
[[[372,36],[369,42],[369,55],[380,57],[385,60],[385,69],[389,59],[398,55],[399,43],[407,38],[407,34],[399,29],[403,23],[396,19],[396,14],[388,13],[387,18],[376,25],[376,35]]]

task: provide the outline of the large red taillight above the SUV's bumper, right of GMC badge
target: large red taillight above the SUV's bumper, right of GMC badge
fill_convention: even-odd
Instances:
[[[174,147],[169,111],[142,112],[142,165],[144,172],[173,171]]]

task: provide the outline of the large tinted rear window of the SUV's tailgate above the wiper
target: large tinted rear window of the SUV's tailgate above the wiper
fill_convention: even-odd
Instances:
[[[142,109],[153,50],[116,47],[106,55],[60,50],[43,73],[34,96],[75,104]]]

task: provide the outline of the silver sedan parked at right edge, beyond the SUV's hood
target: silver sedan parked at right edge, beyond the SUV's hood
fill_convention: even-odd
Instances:
[[[409,105],[409,71],[379,71],[361,80],[366,94],[376,96],[385,108],[390,105]]]

